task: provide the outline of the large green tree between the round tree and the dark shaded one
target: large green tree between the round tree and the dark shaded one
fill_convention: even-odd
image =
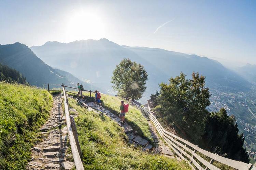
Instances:
[[[204,130],[204,118],[208,114],[205,107],[210,105],[209,88],[205,88],[205,77],[198,72],[192,79],[180,76],[170,78],[169,84],[160,84],[157,102],[158,114],[166,122],[172,123],[192,141],[198,141]],[[157,110],[156,109],[156,110]]]

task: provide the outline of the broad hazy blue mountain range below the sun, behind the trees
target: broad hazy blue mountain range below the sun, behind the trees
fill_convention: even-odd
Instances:
[[[140,100],[142,103],[158,89],[159,83],[168,82],[181,71],[188,78],[193,71],[199,71],[206,77],[206,85],[213,89],[248,91],[251,86],[238,73],[207,57],[159,48],[120,46],[106,38],[71,43],[48,41],[43,46],[32,46],[30,49],[48,65],[66,70],[79,79],[89,80],[112,95],[115,92],[110,81],[115,66],[123,58],[141,63],[149,75],[147,89]]]

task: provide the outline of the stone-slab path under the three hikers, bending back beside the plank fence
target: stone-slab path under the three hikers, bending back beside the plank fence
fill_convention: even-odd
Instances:
[[[138,133],[137,131],[134,132],[130,125],[128,125],[127,123],[122,124],[121,119],[115,114],[111,113],[108,109],[100,108],[98,105],[94,106],[94,102],[86,102],[86,100],[84,99],[79,99],[79,100],[80,102],[84,102],[88,106],[89,111],[101,112],[104,115],[110,117],[112,120],[116,121],[119,126],[122,126],[125,130],[126,135],[129,138],[129,143],[134,144],[134,146],[136,147],[141,146],[143,150],[151,150],[155,154],[163,154],[170,158],[174,158],[173,152],[167,146],[167,144],[164,143],[162,139],[158,136],[158,134],[156,133],[155,127],[153,126],[152,122],[147,116],[144,115],[144,117],[148,120],[148,124],[150,126],[150,132],[154,139],[155,148],[153,148],[153,146],[146,139],[139,136],[137,134]]]

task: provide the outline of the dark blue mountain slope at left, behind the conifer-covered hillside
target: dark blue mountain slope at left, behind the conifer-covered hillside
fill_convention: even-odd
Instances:
[[[26,45],[14,43],[0,45],[0,63],[22,73],[30,85],[43,87],[43,84],[66,84],[74,86],[81,80],[72,74],[52,68],[37,57]],[[89,88],[90,85],[84,83]]]

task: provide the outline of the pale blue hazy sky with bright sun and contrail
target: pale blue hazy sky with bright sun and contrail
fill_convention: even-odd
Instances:
[[[256,1],[0,0],[0,44],[103,37],[256,64]]]

